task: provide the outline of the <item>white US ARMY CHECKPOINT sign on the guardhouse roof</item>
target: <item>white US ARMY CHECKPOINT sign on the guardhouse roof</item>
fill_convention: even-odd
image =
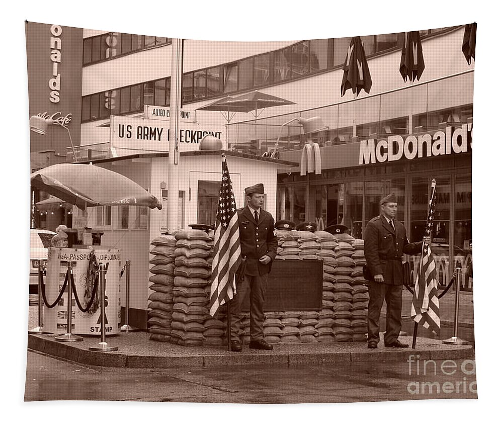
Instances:
[[[165,116],[164,116],[165,118]],[[225,127],[221,125],[180,122],[179,151],[199,150],[199,143],[207,134],[225,141]],[[120,154],[134,151],[169,151],[170,122],[167,120],[110,116],[110,146]]]

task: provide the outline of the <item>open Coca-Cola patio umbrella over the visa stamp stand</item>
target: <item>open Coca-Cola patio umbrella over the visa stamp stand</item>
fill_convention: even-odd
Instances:
[[[30,176],[37,189],[86,209],[98,205],[141,205],[162,209],[161,204],[134,181],[92,164],[58,163]]]

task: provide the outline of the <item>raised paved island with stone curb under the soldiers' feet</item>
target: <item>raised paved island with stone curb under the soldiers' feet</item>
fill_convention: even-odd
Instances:
[[[37,326],[37,306],[30,306],[29,328]],[[167,367],[213,367],[213,366],[253,366],[275,364],[286,367],[295,365],[333,365],[341,362],[406,361],[409,355],[423,360],[452,360],[474,358],[473,346],[444,345],[441,340],[418,337],[416,348],[384,348],[383,341],[377,350],[369,350],[366,342],[339,342],[331,344],[315,343],[274,346],[273,351],[250,350],[227,351],[227,347],[183,347],[171,343],[149,340],[150,334],[143,331],[120,333],[108,336],[111,346],[118,351],[90,351],[96,346],[100,336],[82,336],[80,342],[58,342],[57,334],[28,334],[28,349],[46,355],[75,361],[82,364],[129,368]],[[412,336],[400,337],[411,345]]]

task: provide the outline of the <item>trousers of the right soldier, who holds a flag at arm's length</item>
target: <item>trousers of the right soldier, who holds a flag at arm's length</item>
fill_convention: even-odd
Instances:
[[[402,286],[385,283],[369,282],[369,342],[379,341],[379,317],[384,300],[386,300],[386,333],[384,343],[391,344],[398,339],[402,327]]]

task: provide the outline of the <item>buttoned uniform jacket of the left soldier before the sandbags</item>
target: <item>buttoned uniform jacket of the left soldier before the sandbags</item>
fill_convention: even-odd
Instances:
[[[246,256],[246,269],[244,273],[251,276],[265,275],[271,272],[272,261],[276,258],[278,240],[274,234],[273,216],[266,210],[260,210],[259,223],[249,208],[237,210],[239,220],[239,239],[241,241],[241,255]],[[271,263],[263,265],[259,259],[263,255],[271,258]]]

